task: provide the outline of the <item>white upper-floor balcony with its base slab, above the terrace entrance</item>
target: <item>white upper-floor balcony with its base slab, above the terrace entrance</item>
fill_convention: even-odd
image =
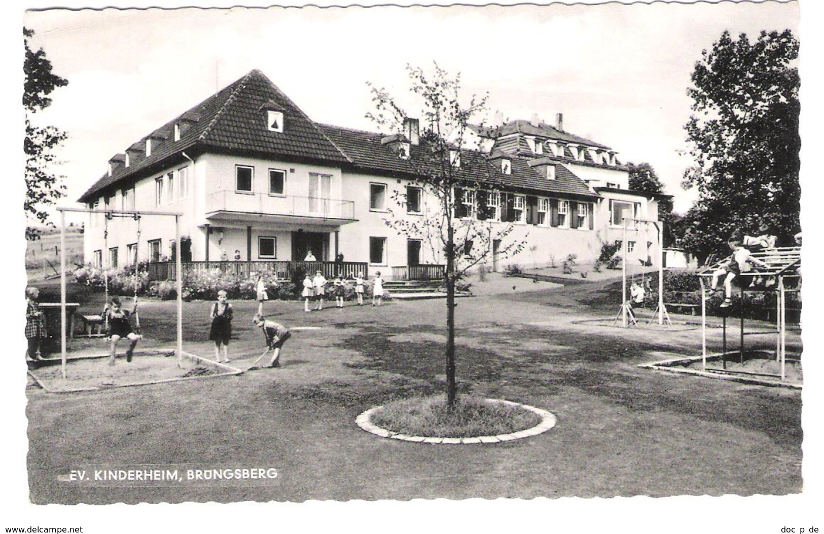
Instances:
[[[276,222],[336,226],[355,221],[351,200],[218,191],[206,197],[210,221]]]

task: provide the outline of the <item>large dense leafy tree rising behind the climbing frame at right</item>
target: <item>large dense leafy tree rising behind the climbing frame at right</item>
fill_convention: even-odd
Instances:
[[[762,31],[754,42],[724,32],[695,63],[686,123],[684,186],[699,200],[684,217],[684,246],[699,258],[726,253],[733,231],[761,221],[786,241],[798,231],[798,40]]]

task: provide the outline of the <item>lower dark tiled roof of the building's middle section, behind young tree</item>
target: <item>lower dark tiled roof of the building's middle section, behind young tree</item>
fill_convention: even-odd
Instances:
[[[424,147],[422,146],[412,146],[410,160],[402,160],[392,151],[391,146],[381,142],[384,137],[381,133],[363,132],[330,124],[320,124],[319,126],[326,136],[332,142],[335,142],[335,145],[344,151],[346,156],[349,156],[349,160],[357,169],[403,174],[411,177],[418,171],[415,161],[424,160],[424,154],[422,153]],[[496,155],[499,155],[499,153],[496,153]],[[478,156],[486,159],[486,156],[477,152],[461,151],[461,160],[464,162],[471,161]],[[466,169],[466,177],[459,175],[458,178],[516,190],[529,189],[543,193],[560,193],[585,197],[598,196],[592,193],[578,176],[563,165],[555,165],[555,180],[547,179],[537,169],[532,168],[527,160],[521,158],[512,159],[512,174],[501,173],[499,159],[485,161],[480,173],[470,174],[468,168],[469,165],[461,167],[461,169]],[[477,170],[477,167],[475,167],[475,170]]]

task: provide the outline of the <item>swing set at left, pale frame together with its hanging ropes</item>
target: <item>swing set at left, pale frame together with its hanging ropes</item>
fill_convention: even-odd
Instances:
[[[66,212],[67,211],[75,211],[75,212],[82,212],[82,213],[91,213],[96,214],[100,213],[105,218],[105,226],[104,226],[104,233],[103,233],[103,242],[104,248],[108,251],[108,238],[109,238],[109,221],[112,220],[114,217],[126,217],[126,218],[133,218],[134,221],[137,221],[137,242],[134,248],[134,296],[133,301],[137,304],[138,301],[138,245],[140,243],[140,221],[143,216],[171,216],[175,217],[175,236],[176,236],[176,243],[180,243],[180,217],[183,216],[182,213],[173,212],[173,211],[148,211],[148,210],[93,210],[88,208],[80,208],[80,207],[58,207],[57,210],[60,213],[60,365],[61,365],[61,374],[63,378],[66,378],[66,341],[67,341],[67,332],[66,332]],[[180,367],[180,363],[183,359],[183,277],[180,274],[183,272],[181,265],[180,265],[180,253],[176,254],[176,272],[179,273],[177,276],[176,281],[176,290],[177,290],[177,343],[176,343],[176,358],[177,358],[177,365]],[[105,300],[106,304],[109,304],[109,276],[104,270],[104,288],[105,288]],[[93,316],[92,316],[93,317]],[[108,324],[108,313],[104,314],[102,318],[105,328],[105,332],[108,333],[109,331],[109,324]],[[135,310],[134,314],[135,318],[135,329],[137,330],[136,333],[140,332],[140,317]]]

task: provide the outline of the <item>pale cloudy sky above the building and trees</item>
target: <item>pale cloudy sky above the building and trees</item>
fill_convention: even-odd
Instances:
[[[68,132],[67,201],[111,156],[258,68],[310,118],[376,129],[367,81],[404,100],[407,63],[461,73],[491,112],[555,123],[653,165],[686,211],[686,95],[723,30],[793,30],[798,4],[763,2],[509,7],[49,10],[26,12],[68,86],[37,118]],[[425,37],[424,37],[425,36]],[[490,116],[491,118],[491,116]]]

